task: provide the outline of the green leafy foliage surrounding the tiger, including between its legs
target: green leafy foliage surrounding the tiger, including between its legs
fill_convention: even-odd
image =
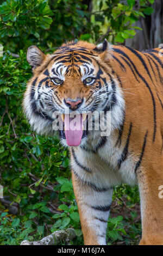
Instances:
[[[83,244],[68,150],[57,136],[33,133],[23,117],[22,97],[32,74],[26,50],[36,44],[53,52],[66,40],[95,42],[103,34],[112,42],[123,42],[139,29],[135,21],[152,13],[153,1],[140,1],[139,6],[133,0],[94,1],[92,10],[80,0],[1,2],[0,178],[5,202],[0,200],[0,243],[18,245],[24,239],[38,240],[54,230],[73,227],[77,239],[72,243]],[[108,33],[102,29],[106,26]],[[137,188],[116,187],[113,199],[120,207],[126,200],[127,208],[134,209],[139,202]],[[137,241],[134,234],[140,235],[140,222],[134,224],[135,216],[109,219],[109,243],[122,237],[126,243],[131,238]]]

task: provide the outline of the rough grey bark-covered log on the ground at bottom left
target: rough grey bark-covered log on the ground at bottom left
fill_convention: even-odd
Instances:
[[[76,233],[73,228],[68,228],[64,230],[54,231],[51,235],[43,237],[40,241],[30,242],[24,240],[21,245],[60,245],[61,242],[72,241],[76,237]]]

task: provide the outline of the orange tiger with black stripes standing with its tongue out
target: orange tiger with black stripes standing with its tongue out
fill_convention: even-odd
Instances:
[[[66,42],[52,54],[28,48],[33,76],[23,97],[24,114],[35,132],[57,132],[70,150],[85,245],[106,245],[112,191],[121,184],[139,187],[139,244],[163,245],[161,51],[140,52],[106,39],[98,45]],[[87,113],[94,112],[94,128],[88,129]],[[95,129],[101,112],[109,131],[103,135],[104,129]],[[58,131],[56,120],[63,124]]]

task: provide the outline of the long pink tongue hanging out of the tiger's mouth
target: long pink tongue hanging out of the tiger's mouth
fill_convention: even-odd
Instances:
[[[69,146],[78,146],[81,142],[83,135],[82,129],[82,114],[70,118],[65,114],[65,136]]]

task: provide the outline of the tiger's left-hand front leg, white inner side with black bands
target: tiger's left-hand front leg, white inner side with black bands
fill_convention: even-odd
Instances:
[[[75,174],[74,174],[75,173]],[[72,170],[74,194],[76,196],[85,245],[106,245],[105,235],[112,189],[102,190],[79,178]]]

